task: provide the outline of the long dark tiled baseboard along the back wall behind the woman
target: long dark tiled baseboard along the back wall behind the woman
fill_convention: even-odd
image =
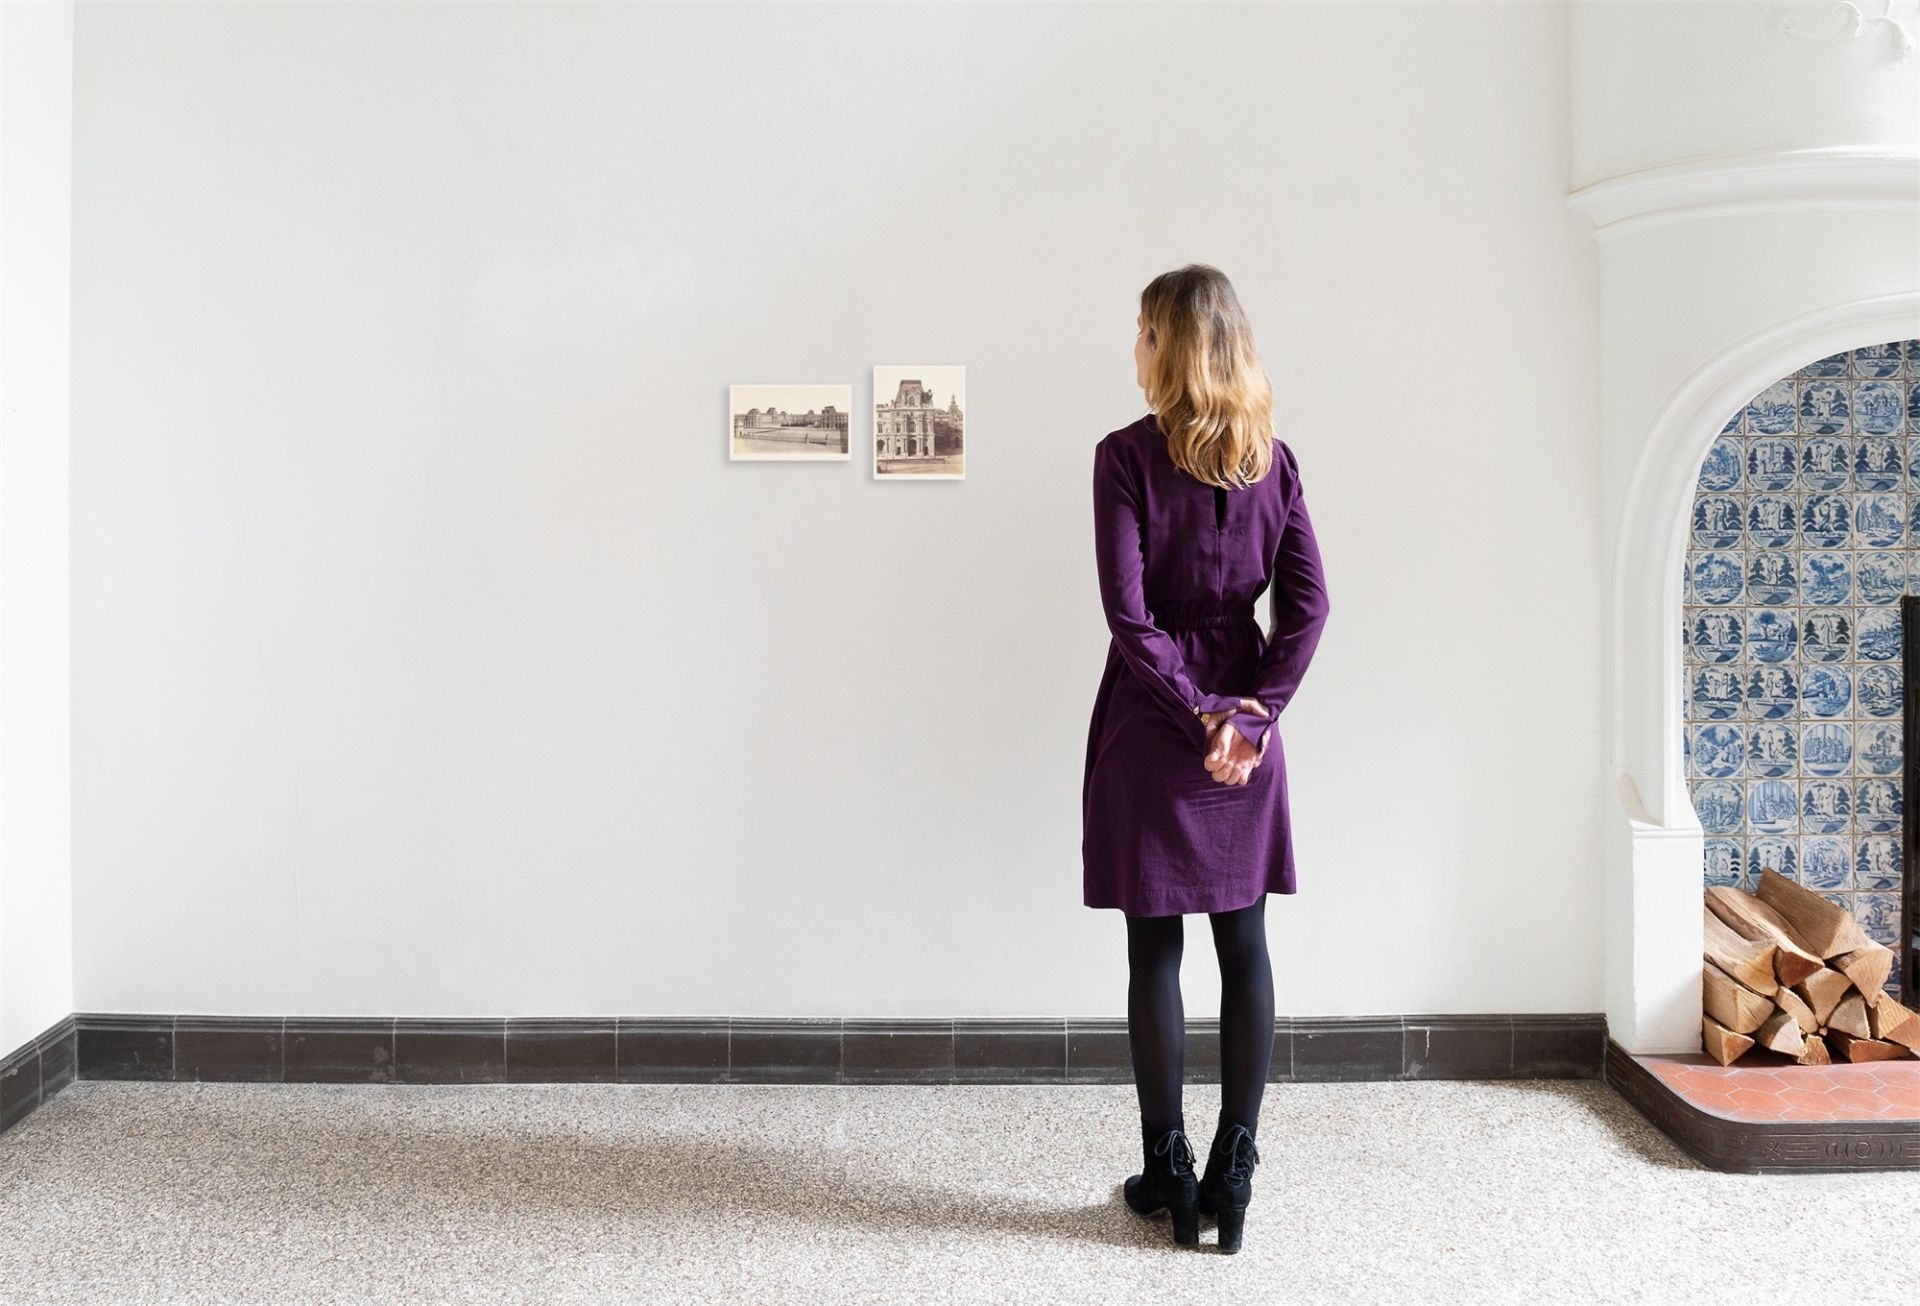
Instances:
[[[1123,1018],[73,1018],[83,1079],[267,1083],[1131,1083]],[[1605,1016],[1298,1016],[1267,1077],[1599,1077]],[[1219,1022],[1187,1022],[1219,1079]]]

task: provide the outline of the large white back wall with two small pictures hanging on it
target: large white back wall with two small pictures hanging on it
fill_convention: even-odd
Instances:
[[[1281,1010],[1597,1010],[1565,69],[1557,6],[84,6],[77,1006],[1121,1012],[1089,467],[1204,259],[1334,597]],[[964,482],[728,465],[728,382],[858,449],[916,361]]]

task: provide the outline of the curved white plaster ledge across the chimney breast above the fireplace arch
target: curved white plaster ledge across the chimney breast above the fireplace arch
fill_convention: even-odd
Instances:
[[[1905,207],[1920,221],[1920,150],[1830,146],[1680,159],[1609,177],[1567,196],[1594,236],[1661,223],[1789,209]]]

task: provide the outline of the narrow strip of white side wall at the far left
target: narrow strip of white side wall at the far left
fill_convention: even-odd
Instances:
[[[0,1056],[73,1010],[71,73],[71,4],[0,6]]]

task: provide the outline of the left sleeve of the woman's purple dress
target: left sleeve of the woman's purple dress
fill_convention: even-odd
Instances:
[[[1187,661],[1171,636],[1156,626],[1146,611],[1140,586],[1146,570],[1140,545],[1142,507],[1123,459],[1114,457],[1104,442],[1096,444],[1092,453],[1092,545],[1108,630],[1114,632],[1119,655],[1154,695],[1154,701],[1181,724],[1181,730],[1194,741],[1194,751],[1206,753],[1208,730],[1200,713],[1235,709],[1240,699],[1238,695],[1202,693],[1187,676]]]

